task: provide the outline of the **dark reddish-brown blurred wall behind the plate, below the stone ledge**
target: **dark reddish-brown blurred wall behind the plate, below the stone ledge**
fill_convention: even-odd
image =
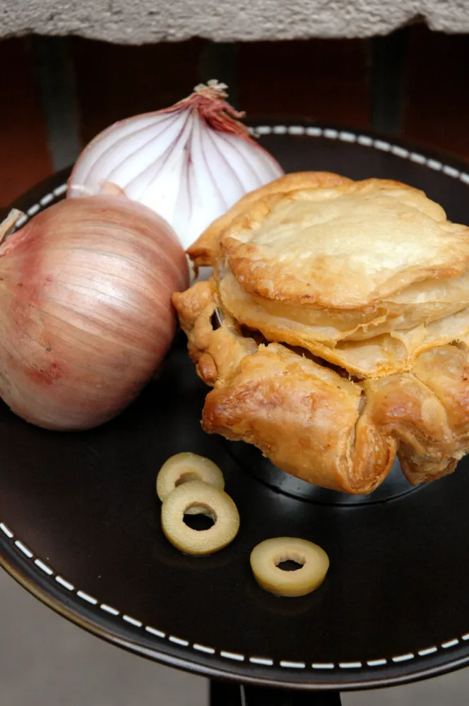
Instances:
[[[122,46],[79,37],[0,42],[0,205],[71,164],[114,121],[218,78],[251,123],[339,124],[469,157],[469,36],[412,25],[367,40]]]

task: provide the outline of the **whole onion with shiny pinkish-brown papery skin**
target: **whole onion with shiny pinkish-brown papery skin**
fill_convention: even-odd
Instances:
[[[0,395],[46,429],[112,419],[153,376],[187,286],[170,226],[119,196],[62,201],[0,246]]]

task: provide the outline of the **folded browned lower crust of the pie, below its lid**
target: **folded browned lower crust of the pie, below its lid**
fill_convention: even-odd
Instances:
[[[426,352],[412,372],[358,383],[283,345],[259,345],[226,313],[214,328],[213,280],[174,294],[174,305],[198,374],[213,387],[203,429],[253,443],[302,480],[369,493],[396,450],[417,484],[451,472],[468,449],[464,345]]]

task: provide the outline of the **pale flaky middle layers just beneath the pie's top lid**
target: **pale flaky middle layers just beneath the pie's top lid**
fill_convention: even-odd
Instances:
[[[410,369],[425,350],[469,335],[469,272],[453,280],[446,300],[425,301],[420,292],[417,306],[396,295],[375,308],[338,313],[283,302],[271,306],[244,292],[231,273],[216,276],[220,302],[237,321],[269,341],[302,347],[360,378]]]

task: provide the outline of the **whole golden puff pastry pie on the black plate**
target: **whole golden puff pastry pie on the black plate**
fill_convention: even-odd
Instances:
[[[469,229],[422,191],[287,174],[189,256],[213,266],[173,297],[213,387],[203,429],[348,493],[374,490],[396,453],[417,484],[469,450]]]

